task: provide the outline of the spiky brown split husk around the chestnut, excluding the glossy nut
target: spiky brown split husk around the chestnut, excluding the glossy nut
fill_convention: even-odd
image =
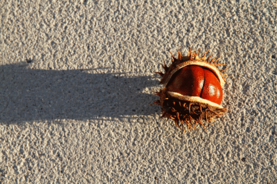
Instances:
[[[211,59],[211,62],[208,60],[211,58],[208,57],[206,59],[206,53],[202,57],[198,57],[198,53],[194,52],[192,53],[192,50],[190,48],[190,52],[187,56],[182,57],[181,51],[179,49],[179,55],[178,59],[176,59],[172,55],[172,64],[170,66],[166,66],[166,62],[164,62],[163,69],[166,71],[166,73],[156,72],[163,77],[161,79],[161,84],[165,84],[165,87],[161,89],[159,92],[154,92],[155,95],[158,95],[160,97],[159,100],[152,104],[158,104],[161,105],[161,112],[163,113],[161,118],[168,118],[172,119],[175,122],[175,125],[179,129],[183,129],[185,131],[185,125],[186,127],[190,129],[194,129],[197,123],[199,125],[202,125],[205,129],[206,127],[203,124],[203,121],[206,120],[206,122],[213,122],[213,118],[218,117],[222,118],[223,114],[227,111],[225,108],[218,108],[214,107],[210,104],[202,103],[202,102],[191,102],[189,100],[180,100],[178,98],[172,97],[167,89],[166,85],[168,84],[170,77],[180,69],[179,66],[181,66],[185,62],[199,62],[200,64],[208,64],[208,66],[211,66],[213,71],[217,70],[217,77],[219,77],[222,81],[222,85],[224,82],[226,82],[226,77],[222,74],[222,71],[219,71],[216,66],[220,66],[222,64],[215,64],[217,62],[216,59],[214,62],[214,59]],[[225,70],[225,69],[224,69]]]

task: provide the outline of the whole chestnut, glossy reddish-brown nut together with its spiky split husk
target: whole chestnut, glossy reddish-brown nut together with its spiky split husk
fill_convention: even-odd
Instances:
[[[163,115],[161,118],[168,118],[175,121],[175,125],[185,131],[184,127],[195,128],[197,123],[204,128],[203,120],[213,122],[214,117],[222,118],[227,111],[220,103],[222,102],[222,87],[226,82],[226,77],[217,66],[225,64],[216,64],[215,57],[206,59],[206,53],[198,56],[191,50],[187,56],[182,56],[179,49],[179,55],[176,59],[172,53],[172,64],[166,66],[164,62],[163,69],[166,73],[155,72],[161,75],[161,84],[163,89],[154,92],[160,97],[152,104],[161,105]],[[205,128],[206,129],[206,128]]]

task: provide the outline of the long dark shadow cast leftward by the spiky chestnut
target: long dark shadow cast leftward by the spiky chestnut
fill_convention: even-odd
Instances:
[[[28,66],[0,66],[0,122],[152,115],[157,96],[142,93],[157,86],[154,77],[126,77],[125,73],[91,74],[87,70],[36,70]]]

